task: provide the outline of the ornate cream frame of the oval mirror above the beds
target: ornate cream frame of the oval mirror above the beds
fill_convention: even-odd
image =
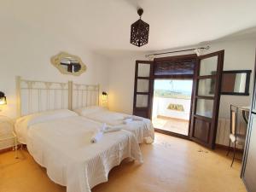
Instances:
[[[61,66],[61,59],[65,58],[65,57],[72,57],[75,60],[79,61],[79,64],[81,65],[81,69],[79,70],[79,72],[75,72],[75,73],[71,73],[71,72],[67,72],[67,70],[65,70],[65,68],[63,68]],[[84,64],[84,62],[79,58],[79,56],[76,55],[71,55],[68,54],[67,52],[60,52],[57,55],[54,55],[50,58],[50,62],[51,64],[56,67],[62,74],[70,74],[70,75],[74,75],[74,76],[79,76],[80,74],[84,73],[86,71],[86,66]]]

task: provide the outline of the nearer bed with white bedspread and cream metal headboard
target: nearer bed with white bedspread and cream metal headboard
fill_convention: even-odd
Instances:
[[[17,90],[18,140],[52,181],[67,186],[67,192],[90,192],[96,184],[108,181],[108,172],[126,158],[143,163],[137,140],[129,131],[104,133],[97,143],[90,143],[102,123],[67,109],[69,84],[19,78]]]

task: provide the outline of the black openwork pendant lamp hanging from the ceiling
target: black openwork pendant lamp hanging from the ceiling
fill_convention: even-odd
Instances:
[[[142,20],[143,9],[138,9],[137,14],[140,19],[131,24],[130,43],[141,47],[144,44],[148,44],[149,25]]]

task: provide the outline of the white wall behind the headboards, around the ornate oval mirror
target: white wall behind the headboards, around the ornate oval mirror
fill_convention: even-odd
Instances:
[[[108,58],[88,51],[75,38],[63,38],[61,34],[44,31],[40,26],[33,26],[9,15],[1,15],[0,22],[0,90],[8,100],[8,105],[3,107],[0,115],[11,118],[16,116],[17,75],[32,80],[73,80],[77,83],[101,84],[102,90],[108,91]],[[52,55],[60,51],[79,55],[87,66],[87,71],[79,77],[61,74],[49,61]]]

